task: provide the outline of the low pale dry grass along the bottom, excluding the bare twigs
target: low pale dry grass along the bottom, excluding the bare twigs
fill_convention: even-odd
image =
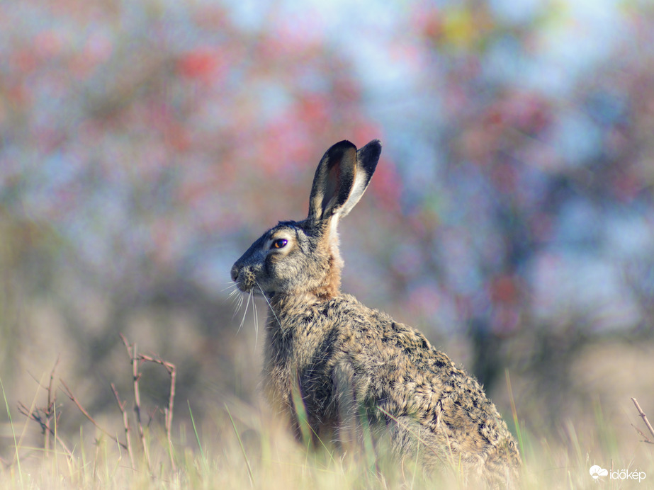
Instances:
[[[241,407],[242,408],[242,407]],[[368,465],[354,458],[337,457],[328,452],[305,450],[297,445],[283,428],[261,416],[253,407],[239,411],[230,410],[234,426],[228,421],[227,411],[218,410],[213,431],[204,427],[198,430],[202,451],[192,450],[190,445],[177,443],[176,465],[171,469],[167,463],[167,438],[164,433],[151,433],[147,439],[150,457],[155,465],[147,471],[145,459],[133,469],[125,450],[112,440],[98,434],[90,444],[74,445],[72,455],[62,450],[45,451],[43,448],[18,447],[18,460],[8,462],[0,469],[0,486],[6,489],[68,489],[68,488],[193,488],[193,489],[361,489],[361,488],[434,488],[434,481],[427,481],[419,472],[402,472],[383,467],[385,475],[371,472]],[[227,419],[227,421],[225,420]],[[205,423],[205,426],[210,424]],[[236,428],[236,431],[234,429]],[[16,427],[18,432],[23,427]],[[192,428],[187,428],[189,433]],[[184,431],[184,428],[181,428]],[[633,455],[605,455],[617,448],[602,447],[592,435],[578,434],[569,423],[565,429],[568,445],[549,445],[544,438],[526,437],[526,465],[522,487],[526,489],[594,489],[597,482],[590,477],[594,464],[611,469],[628,469],[629,472],[645,472],[654,475],[653,453],[643,452],[635,465]],[[241,441],[239,442],[239,438]],[[177,438],[184,439],[183,437]],[[220,440],[220,444],[214,441]],[[641,443],[644,446],[644,443]],[[647,448],[649,449],[649,448]],[[644,459],[643,459],[644,457]],[[456,477],[438,481],[441,487],[466,488]],[[619,481],[604,478],[602,488],[648,488],[646,479],[639,487],[636,481]]]

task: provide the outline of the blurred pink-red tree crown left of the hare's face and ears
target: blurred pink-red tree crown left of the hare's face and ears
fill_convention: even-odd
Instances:
[[[108,387],[118,332],[150,325],[182,390],[204,367],[242,391],[221,338],[231,262],[305,209],[330,144],[380,137],[346,59],[266,8],[244,25],[202,2],[0,5],[3,372],[56,336],[76,375]],[[112,404],[92,396],[90,410]]]

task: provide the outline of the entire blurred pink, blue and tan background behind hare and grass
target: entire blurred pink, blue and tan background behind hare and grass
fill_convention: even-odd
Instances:
[[[59,359],[55,384],[115,414],[123,333],[176,364],[177,420],[187,400],[207,426],[225,401],[256,405],[266,309],[258,327],[252,305],[235,314],[230,266],[305,217],[327,147],[380,138],[341,226],[344,290],[421,329],[511,418],[508,370],[531,431],[642,445],[653,135],[645,0],[2,2],[6,397],[43,404]],[[166,373],[147,379],[165,406]]]

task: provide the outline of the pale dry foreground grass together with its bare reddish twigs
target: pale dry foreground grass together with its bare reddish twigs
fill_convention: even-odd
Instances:
[[[112,433],[93,418],[75,397],[72,389],[56,380],[55,369],[44,375],[34,401],[23,405],[23,416],[12,410],[2,389],[12,450],[0,461],[0,488],[3,489],[427,489],[438,486],[465,489],[465,480],[456,467],[426,479],[410,464],[376,459],[371,445],[362,445],[361,454],[340,455],[328,446],[318,450],[292,440],[278,418],[264,406],[244,404],[234,397],[220,397],[202,421],[193,418],[193,401],[177,404],[176,412],[188,410],[188,418],[172,421],[175,397],[174,366],[164,360],[141,355],[134,344],[123,339],[133,368],[134,392],[128,399],[115,393],[116,426]],[[155,363],[171,375],[169,403],[162,416],[141,406],[140,365]],[[1,380],[0,380],[1,382]],[[507,382],[509,378],[507,377]],[[510,382],[509,394],[511,393]],[[86,412],[89,421],[79,436],[64,438],[57,432],[62,406],[57,393],[63,392],[74,406]],[[125,394],[123,394],[125,396]],[[43,402],[40,400],[43,399]],[[39,403],[43,406],[40,407]],[[631,404],[631,401],[630,401]],[[599,404],[594,413],[580,421],[560,421],[558,433],[543,433],[521,420],[512,400],[513,431],[524,459],[521,488],[596,489],[598,482],[590,467],[609,470],[601,488],[651,488],[654,482],[654,431],[646,412],[650,407],[633,407],[631,438],[617,438],[604,421]],[[650,409],[651,411],[651,409]],[[156,412],[156,410],[155,410]],[[149,414],[149,421],[142,417]],[[508,417],[509,419],[511,417]],[[649,424],[649,425],[648,425]],[[41,431],[40,445],[30,445],[29,433]],[[131,440],[134,439],[134,440]],[[367,449],[366,449],[367,448]],[[456,466],[456,465],[455,465]],[[624,471],[623,471],[624,470]],[[612,478],[644,474],[633,478]]]

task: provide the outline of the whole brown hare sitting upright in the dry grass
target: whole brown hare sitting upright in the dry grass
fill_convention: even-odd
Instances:
[[[337,226],[361,199],[380,153],[378,140],[359,150],[334,144],[318,164],[308,217],[279,222],[232,266],[239,290],[269,302],[264,392],[298,438],[298,413],[315,442],[344,448],[360,443],[356,428],[365,426],[386,434],[393,455],[428,472],[450,462],[507,486],[517,479],[517,445],[480,384],[424,335],[339,290]]]

